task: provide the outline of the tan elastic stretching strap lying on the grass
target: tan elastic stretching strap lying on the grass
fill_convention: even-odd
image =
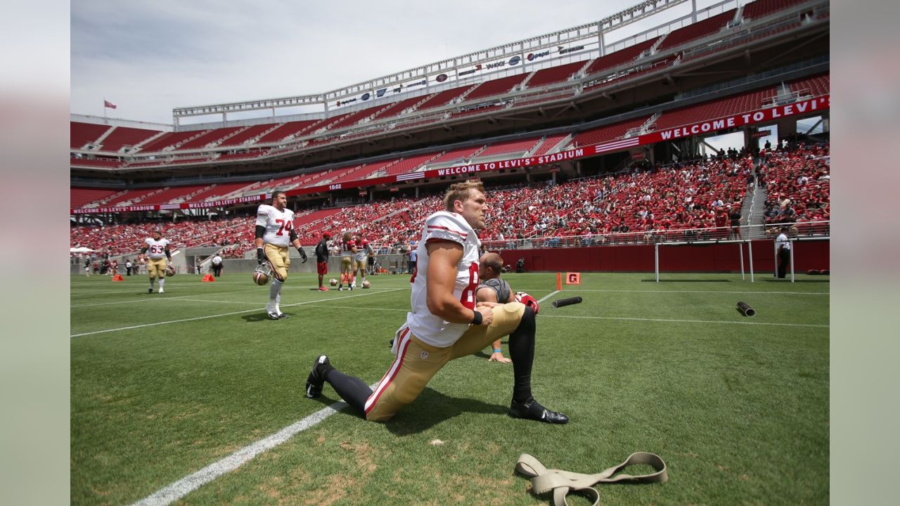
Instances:
[[[653,474],[613,474],[625,469],[629,465],[651,465],[656,469]],[[581,474],[561,471],[559,469],[547,469],[534,456],[523,453],[518,457],[516,471],[531,477],[531,488],[535,493],[541,494],[553,491],[554,506],[568,506],[566,496],[569,493],[581,493],[593,502],[593,506],[600,503],[600,492],[593,488],[597,483],[665,483],[669,481],[666,472],[666,463],[660,456],[646,452],[636,452],[628,456],[622,464],[610,467],[598,474]]]

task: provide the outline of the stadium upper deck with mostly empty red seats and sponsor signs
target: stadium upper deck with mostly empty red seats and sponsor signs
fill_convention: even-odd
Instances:
[[[702,129],[703,122],[739,113],[764,116],[742,124],[772,120],[772,111],[778,112],[774,106],[788,102],[808,102],[804,109],[793,110],[795,114],[828,107],[827,75],[822,74],[827,72],[827,1],[757,0],[740,5],[725,0],[605,44],[611,30],[682,3],[645,2],[596,23],[322,95],[176,109],[174,131],[73,121],[72,175],[83,178],[73,179],[73,186],[91,186],[91,178],[112,174],[128,175],[132,182],[156,180],[162,183],[157,188],[166,188],[175,186],[167,185],[172,180],[166,178],[176,174],[219,171],[223,176],[289,174],[266,179],[290,180],[297,193],[315,193],[332,185],[419,179],[428,171],[490,163],[503,155],[534,158],[520,161],[522,166],[591,157],[693,135],[700,131],[690,131],[692,123],[701,123]],[[815,73],[820,76],[808,85],[794,83]],[[756,78],[728,90],[738,93],[707,104],[698,101],[715,94],[689,97],[698,88],[716,85],[721,76]],[[178,125],[193,115],[214,113],[227,120],[229,112],[298,104],[318,104],[323,111],[276,121],[269,117]],[[703,133],[740,126],[709,124]],[[554,146],[545,144],[548,138]],[[452,146],[461,141],[468,143]],[[506,144],[525,148],[501,152],[499,146]],[[409,154],[388,154],[402,150]],[[313,171],[317,174],[304,178],[296,174]],[[211,186],[196,182],[198,187]],[[195,193],[187,186],[149,196],[132,191],[117,202],[184,206],[271,189],[257,185],[247,190],[248,185],[228,194]],[[82,201],[74,199],[73,207],[76,202]],[[85,204],[96,209],[112,201],[101,197]]]

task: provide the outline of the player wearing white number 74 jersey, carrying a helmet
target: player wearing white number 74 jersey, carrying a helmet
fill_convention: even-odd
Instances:
[[[269,320],[290,318],[281,312],[281,290],[287,280],[287,270],[291,267],[288,246],[297,248],[302,263],[306,263],[306,252],[300,246],[297,231],[293,230],[293,211],[287,208],[287,195],[280,190],[272,193],[272,204],[260,204],[257,209],[257,263],[268,262],[272,267],[272,285],[269,285],[269,302],[266,316]]]

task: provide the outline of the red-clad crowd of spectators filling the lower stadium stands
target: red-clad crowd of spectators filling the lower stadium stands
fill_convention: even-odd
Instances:
[[[685,239],[726,238],[734,234],[743,198],[752,185],[767,188],[765,222],[823,221],[829,217],[828,145],[763,149],[758,171],[743,151],[669,167],[490,189],[491,212],[482,240],[527,239],[536,246],[560,245],[578,236],[581,245],[605,244],[615,237],[646,241],[676,231]],[[329,231],[358,232],[380,248],[400,249],[419,239],[418,224],[441,207],[438,195],[395,197],[359,203],[331,212],[298,211],[302,244],[312,246]],[[321,216],[321,217],[317,217]],[[222,246],[223,258],[243,258],[253,249],[252,216],[228,220],[182,220],[159,224],[76,226],[73,246],[85,245],[112,256],[134,252],[150,230],[161,227],[174,248]],[[729,226],[731,225],[731,226]],[[794,230],[797,231],[796,229]],[[627,234],[623,236],[621,234]],[[383,251],[386,252],[386,251]]]

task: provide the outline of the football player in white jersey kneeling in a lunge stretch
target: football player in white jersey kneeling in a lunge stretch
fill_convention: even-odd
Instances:
[[[319,397],[327,382],[366,420],[390,420],[419,397],[447,362],[509,335],[514,375],[509,416],[566,423],[567,416],[545,409],[531,394],[535,312],[518,302],[475,301],[481,246],[475,230],[484,228],[487,207],[482,182],[473,179],[451,185],[444,204],[446,211],[435,212],[425,221],[417,272],[411,279],[411,311],[394,339],[396,357],[374,392],[321,355],[307,378],[306,396]]]

